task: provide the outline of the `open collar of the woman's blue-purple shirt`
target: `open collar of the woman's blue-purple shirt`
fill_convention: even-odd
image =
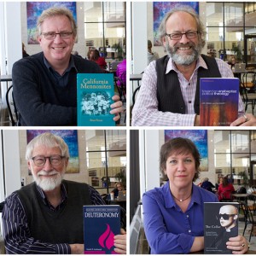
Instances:
[[[170,187],[169,187],[169,181],[163,186],[163,194],[164,194],[164,201],[165,201],[165,205],[166,208],[172,208],[172,207],[177,207],[176,202],[173,200],[172,195],[171,195],[171,191],[170,191]],[[201,201],[200,201],[200,193],[199,193],[199,189],[197,186],[195,186],[195,184],[192,184],[192,195],[191,195],[191,201],[189,204],[189,208],[193,205],[193,204],[199,204],[201,205]],[[188,208],[188,209],[189,209]]]

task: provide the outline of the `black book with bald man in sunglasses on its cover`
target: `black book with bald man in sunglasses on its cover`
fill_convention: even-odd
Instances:
[[[232,254],[226,242],[238,236],[237,202],[204,203],[204,253]]]

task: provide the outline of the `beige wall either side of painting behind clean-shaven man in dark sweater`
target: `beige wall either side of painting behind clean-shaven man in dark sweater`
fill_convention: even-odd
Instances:
[[[26,2],[20,3],[21,7],[21,34],[22,42],[26,46],[26,52],[29,55],[41,51],[39,44],[27,44],[27,24],[26,24]],[[85,38],[84,38],[84,3],[77,2],[77,19],[78,19],[78,42],[74,44],[73,50],[77,50],[79,55],[85,57]]]

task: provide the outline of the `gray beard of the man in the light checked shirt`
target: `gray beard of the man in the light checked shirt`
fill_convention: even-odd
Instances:
[[[192,49],[192,52],[189,54],[177,53],[179,47],[190,47],[190,49]],[[167,54],[172,58],[174,63],[176,63],[177,65],[189,66],[198,59],[199,55],[201,55],[201,49],[203,47],[201,43],[195,45],[192,42],[189,42],[188,44],[176,44],[172,47],[170,46],[169,42],[166,41],[165,48]]]

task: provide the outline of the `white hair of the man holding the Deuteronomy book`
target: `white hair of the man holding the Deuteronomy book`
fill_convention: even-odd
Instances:
[[[30,160],[32,158],[32,152],[34,148],[42,145],[49,148],[59,147],[61,149],[61,155],[69,158],[67,143],[65,143],[61,137],[54,135],[50,132],[45,132],[38,135],[37,137],[34,137],[32,141],[27,144],[26,160]]]

